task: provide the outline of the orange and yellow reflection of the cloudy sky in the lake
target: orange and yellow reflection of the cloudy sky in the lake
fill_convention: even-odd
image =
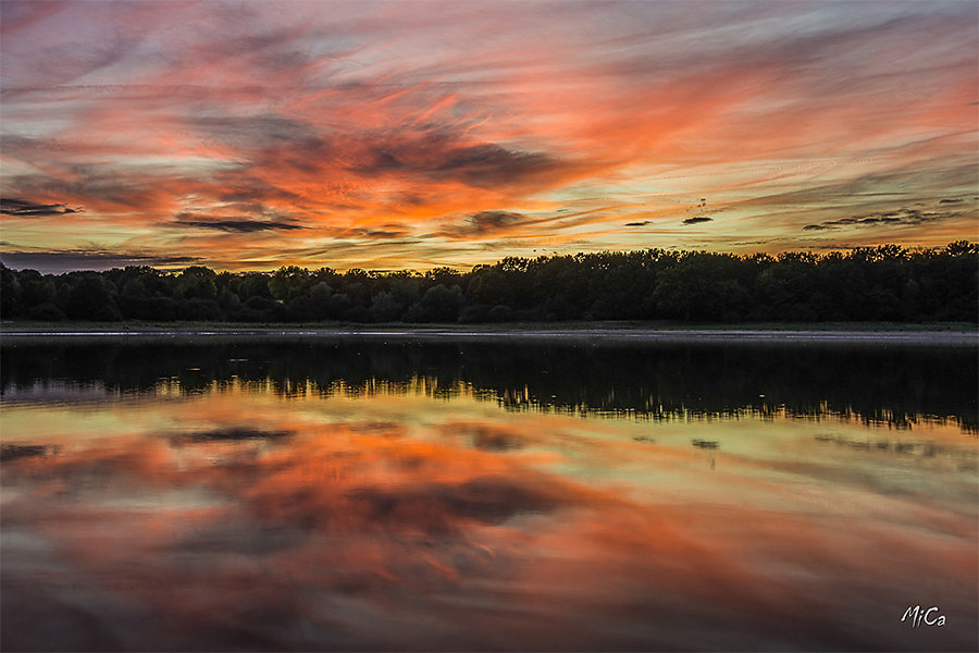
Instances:
[[[889,433],[842,420],[582,420],[464,393],[4,412],[7,650],[976,643],[976,456],[954,427],[917,435],[943,443],[925,458],[817,436]],[[950,626],[901,624],[916,603]]]

